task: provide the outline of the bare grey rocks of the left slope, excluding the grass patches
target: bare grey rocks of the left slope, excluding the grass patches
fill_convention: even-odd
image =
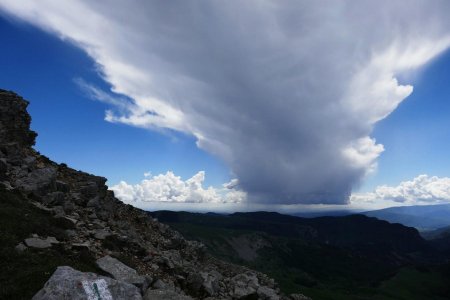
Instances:
[[[32,234],[16,251],[87,253],[107,275],[61,266],[34,299],[306,299],[283,296],[266,275],[209,256],[202,244],[123,204],[105,178],[35,151],[27,105],[0,90],[0,186],[51,215],[63,234]]]

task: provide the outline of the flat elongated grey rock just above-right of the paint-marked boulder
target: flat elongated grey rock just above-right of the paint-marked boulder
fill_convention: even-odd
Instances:
[[[97,266],[108,274],[111,274],[115,279],[134,284],[142,287],[146,278],[139,276],[135,269],[130,268],[121,261],[107,255],[97,259]]]

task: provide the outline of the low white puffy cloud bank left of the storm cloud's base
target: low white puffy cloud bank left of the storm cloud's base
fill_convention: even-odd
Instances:
[[[145,176],[145,177],[149,177]],[[224,188],[204,188],[205,172],[200,171],[186,181],[172,172],[144,179],[131,185],[125,181],[110,187],[117,198],[125,203],[175,202],[175,203],[241,203],[245,192],[231,186],[235,181],[224,184]],[[137,205],[140,205],[137,203]]]

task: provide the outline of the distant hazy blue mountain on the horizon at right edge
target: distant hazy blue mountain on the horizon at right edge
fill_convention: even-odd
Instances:
[[[389,207],[362,214],[421,231],[450,226],[450,204]]]

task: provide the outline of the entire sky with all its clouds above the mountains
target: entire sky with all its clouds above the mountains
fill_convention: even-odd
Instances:
[[[392,2],[0,0],[0,88],[138,207],[450,203],[450,3]]]

